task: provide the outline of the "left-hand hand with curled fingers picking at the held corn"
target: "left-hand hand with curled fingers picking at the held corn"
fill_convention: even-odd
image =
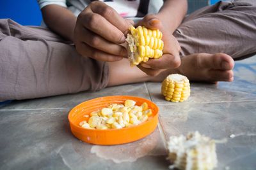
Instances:
[[[127,56],[125,33],[130,20],[125,20],[110,6],[100,1],[90,3],[77,17],[74,29],[76,50],[84,57],[116,61]]]

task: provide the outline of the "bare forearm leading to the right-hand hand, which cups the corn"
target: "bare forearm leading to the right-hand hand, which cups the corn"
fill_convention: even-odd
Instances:
[[[173,33],[179,27],[187,10],[187,0],[166,0],[159,13],[157,13],[157,17]]]

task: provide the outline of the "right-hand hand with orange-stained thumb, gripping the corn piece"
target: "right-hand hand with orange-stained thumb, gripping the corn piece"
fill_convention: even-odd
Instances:
[[[176,68],[180,66],[180,45],[177,39],[168,31],[167,27],[161,23],[156,15],[147,15],[136,25],[144,25],[149,29],[159,29],[163,33],[164,41],[163,56],[160,59],[150,59],[142,62],[138,67],[149,76],[156,76],[163,69]]]

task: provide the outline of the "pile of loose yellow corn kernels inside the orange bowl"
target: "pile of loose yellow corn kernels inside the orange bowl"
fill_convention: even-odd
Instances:
[[[90,113],[88,122],[83,120],[79,125],[86,129],[121,129],[138,125],[152,116],[147,103],[137,106],[135,101],[126,100],[124,104],[110,104],[108,108]]]

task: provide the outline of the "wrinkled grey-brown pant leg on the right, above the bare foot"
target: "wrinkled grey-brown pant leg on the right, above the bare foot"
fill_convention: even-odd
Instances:
[[[174,32],[181,55],[227,53],[234,60],[256,53],[256,1],[223,1],[195,11]]]

